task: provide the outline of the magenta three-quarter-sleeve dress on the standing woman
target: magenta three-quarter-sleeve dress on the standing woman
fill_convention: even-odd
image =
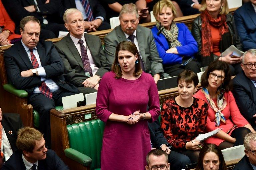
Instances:
[[[160,114],[158,91],[153,77],[142,73],[136,80],[115,79],[115,73],[102,77],[96,102],[96,114],[106,123],[101,150],[101,170],[144,170],[151,150],[147,120],[128,125],[109,121],[111,113],[130,115],[136,110],[148,112],[155,121]]]

